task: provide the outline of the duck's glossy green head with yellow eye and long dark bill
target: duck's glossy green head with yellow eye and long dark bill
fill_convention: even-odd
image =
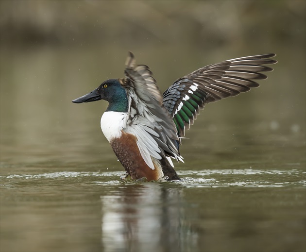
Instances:
[[[103,82],[95,90],[90,93],[73,100],[74,103],[82,103],[89,101],[108,101],[106,111],[127,112],[128,98],[124,87],[119,83],[118,79],[109,79]]]

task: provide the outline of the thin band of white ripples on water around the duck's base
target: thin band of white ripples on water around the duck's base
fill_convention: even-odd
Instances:
[[[60,171],[42,174],[10,174],[0,176],[4,181],[20,180],[44,180],[61,178],[86,178],[97,185],[119,185],[129,183],[143,183],[137,181],[121,181],[122,171],[107,172],[77,172]],[[205,169],[180,171],[180,181],[172,181],[185,187],[284,187],[306,186],[306,172],[298,169],[290,170],[260,170],[260,169]],[[100,178],[100,180],[99,180]],[[86,183],[86,181],[84,181]]]

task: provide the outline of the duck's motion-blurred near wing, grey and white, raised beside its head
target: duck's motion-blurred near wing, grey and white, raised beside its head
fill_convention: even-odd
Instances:
[[[182,160],[175,124],[163,106],[162,94],[149,67],[136,65],[130,52],[124,74],[120,83],[128,94],[129,118],[123,130],[136,136],[141,156],[150,168],[154,169],[151,156],[159,160],[165,156]]]

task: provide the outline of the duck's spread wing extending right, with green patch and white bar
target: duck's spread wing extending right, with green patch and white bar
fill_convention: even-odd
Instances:
[[[170,113],[180,136],[193,124],[206,103],[247,92],[259,84],[253,80],[268,77],[272,71],[262,66],[277,63],[274,53],[242,57],[202,67],[174,82],[163,94],[163,104]]]

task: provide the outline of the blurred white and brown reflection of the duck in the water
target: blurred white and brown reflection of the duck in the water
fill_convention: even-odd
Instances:
[[[182,190],[166,184],[123,185],[101,197],[104,251],[195,250]]]

